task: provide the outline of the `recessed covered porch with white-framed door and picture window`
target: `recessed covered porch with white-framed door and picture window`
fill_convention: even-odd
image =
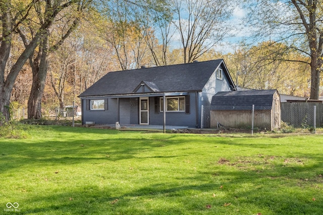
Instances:
[[[186,121],[191,120],[187,119],[190,116],[187,92],[119,95],[117,103],[119,123],[127,128],[181,129],[188,128]]]

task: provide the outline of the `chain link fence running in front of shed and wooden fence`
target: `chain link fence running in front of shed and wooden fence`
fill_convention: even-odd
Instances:
[[[272,131],[289,128],[310,129],[322,126],[322,105],[313,103],[282,103],[279,111],[271,106],[202,106],[203,133],[219,130]]]

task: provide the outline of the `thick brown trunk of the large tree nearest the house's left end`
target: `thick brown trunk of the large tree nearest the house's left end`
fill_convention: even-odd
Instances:
[[[48,31],[43,36],[42,42],[39,45],[38,54],[40,61],[34,61],[32,65],[32,87],[28,99],[28,119],[41,118],[41,98],[45,88],[47,76],[47,49],[48,49]]]

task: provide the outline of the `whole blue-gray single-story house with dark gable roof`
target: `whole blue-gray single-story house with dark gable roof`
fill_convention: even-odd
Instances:
[[[114,71],[79,95],[82,123],[200,127],[201,106],[231,90],[223,59]]]

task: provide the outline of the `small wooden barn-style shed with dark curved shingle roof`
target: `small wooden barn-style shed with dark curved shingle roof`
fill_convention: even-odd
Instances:
[[[281,102],[277,90],[219,92],[212,97],[211,127],[251,127],[273,130],[281,124]]]

